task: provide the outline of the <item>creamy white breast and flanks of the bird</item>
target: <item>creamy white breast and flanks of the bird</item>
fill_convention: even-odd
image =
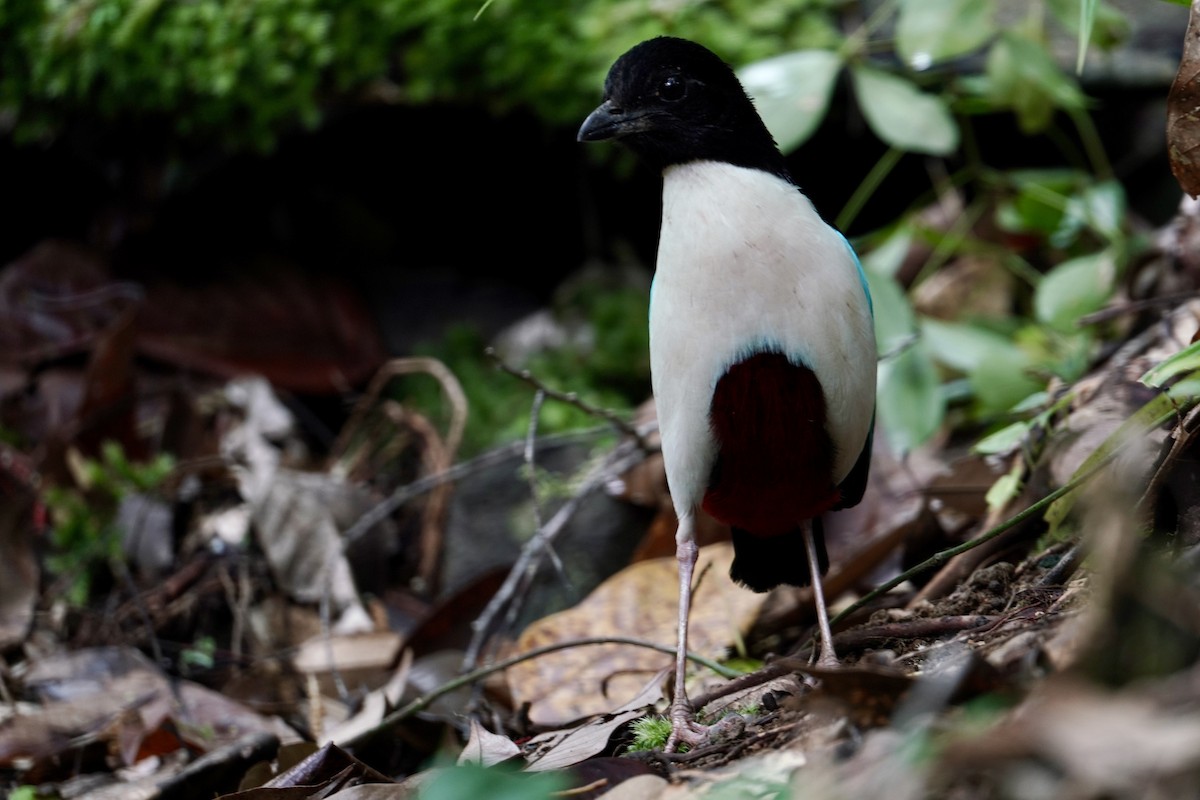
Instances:
[[[682,515],[700,504],[712,471],[716,380],[763,348],[816,373],[840,482],[866,440],[876,372],[870,306],[848,245],[774,175],[718,162],[667,168],[650,369],[667,483]]]

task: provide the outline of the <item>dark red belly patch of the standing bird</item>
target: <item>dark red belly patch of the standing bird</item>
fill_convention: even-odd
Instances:
[[[702,507],[758,536],[796,529],[836,505],[833,441],[816,374],[781,353],[739,361],[708,411],[718,455]]]

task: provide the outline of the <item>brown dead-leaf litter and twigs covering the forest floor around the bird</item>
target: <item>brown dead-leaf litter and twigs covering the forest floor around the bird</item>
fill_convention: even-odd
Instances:
[[[1184,155],[1193,34],[1171,97]],[[1188,160],[1172,168],[1192,192]],[[347,374],[378,383],[323,453],[281,399],[288,380],[322,379],[222,367],[186,391],[164,383],[134,354],[216,361],[143,336],[127,311],[152,297],[48,246],[34,260],[55,266],[52,291],[107,300],[86,313],[23,306],[28,265],[0,285],[13,309],[2,422],[37,443],[0,443],[0,781],[50,796],[419,798],[449,775],[430,764],[450,753],[616,800],[1187,796],[1200,784],[1200,426],[1195,371],[1176,354],[1198,337],[1200,303],[1175,293],[1194,285],[1195,216],[1184,203],[1142,267],[1162,296],[1091,303],[1086,319],[1122,338],[1082,379],[1051,383],[1042,411],[986,452],[949,428],[902,458],[877,445],[868,500],[829,524],[839,669],[808,666],[809,593],[728,584],[724,531],[704,522],[694,646],[722,663],[697,663],[691,694],[709,720],[738,723],[670,756],[628,750],[630,723],[664,711],[674,632],[674,561],[655,557],[673,512],[642,425],[653,405],[632,443],[619,432],[618,459],[593,457],[613,452],[598,435],[556,461],[530,428],[523,450],[456,462],[456,422],[438,429],[383,391],[396,374],[436,373],[443,416],[457,419],[452,375],[356,356]],[[932,337],[961,332],[955,306],[996,313],[1010,283],[962,283],[992,285],[997,269],[967,257],[923,284],[917,301],[949,325]],[[179,463],[158,486],[101,497],[84,476],[104,441],[130,458],[108,469],[133,477],[156,452]],[[460,497],[528,491],[521,468],[547,464],[578,494],[540,509],[526,543],[470,539],[500,549],[446,581]],[[49,515],[59,524],[65,509],[50,487],[112,506],[119,558],[43,572]],[[619,517],[642,521],[618,551],[628,566],[572,582],[572,561],[600,541],[580,546],[592,540],[578,530],[632,507],[648,513]],[[552,563],[551,579],[526,577]],[[521,575],[506,581],[496,566],[511,564]],[[89,603],[68,602],[84,573]]]

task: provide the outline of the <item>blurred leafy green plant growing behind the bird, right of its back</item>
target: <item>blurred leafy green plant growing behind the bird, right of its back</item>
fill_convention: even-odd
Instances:
[[[839,215],[839,227],[850,225],[901,154],[946,157],[956,168],[917,198],[913,211],[858,242],[869,253],[882,354],[878,415],[899,453],[942,429],[950,410],[960,423],[992,429],[1013,415],[1027,425],[1043,419],[1048,383],[1082,377],[1099,345],[1103,331],[1079,320],[1110,301],[1139,248],[1088,98],[1051,53],[1055,35],[1074,36],[1081,68],[1090,47],[1122,40],[1127,20],[1098,0],[1003,5],[881,2],[833,49],[788,53],[739,71],[785,150],[820,127],[839,76],[848,72],[863,119],[889,149]],[[894,36],[881,38],[883,30]],[[881,58],[881,44],[892,49],[892,61]],[[1067,143],[1062,160],[1073,166],[1001,173],[984,163],[972,120],[1004,113],[1026,136]],[[1061,130],[1063,121],[1074,130]],[[930,204],[949,197],[966,201],[958,218],[950,229],[931,224]],[[901,285],[904,260],[922,251],[924,264]],[[991,315],[970,307],[953,318],[919,313],[911,295],[941,267],[970,258],[1015,277],[1010,307]]]

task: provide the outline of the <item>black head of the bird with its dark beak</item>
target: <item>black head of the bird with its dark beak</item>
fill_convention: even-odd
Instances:
[[[620,139],[656,169],[710,160],[788,178],[733,70],[683,38],[652,38],[617,59],[604,103],[584,120],[578,139]]]

